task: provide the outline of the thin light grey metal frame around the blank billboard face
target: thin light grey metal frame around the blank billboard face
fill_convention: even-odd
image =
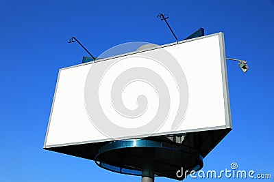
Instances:
[[[208,37],[212,37],[212,36],[219,36],[219,47],[220,47],[220,57],[221,57],[221,73],[222,73],[222,80],[223,80],[223,98],[224,98],[224,105],[225,105],[225,125],[222,126],[216,126],[216,127],[203,127],[203,128],[197,128],[197,129],[191,129],[191,130],[180,130],[180,131],[173,131],[173,132],[162,132],[160,134],[151,134],[151,136],[165,136],[165,135],[173,135],[173,134],[180,134],[180,133],[190,133],[190,132],[202,132],[202,131],[206,131],[206,130],[223,130],[223,129],[232,129],[232,117],[231,117],[231,111],[230,111],[230,101],[229,101],[229,89],[228,89],[228,80],[227,80],[227,65],[226,65],[226,57],[225,57],[225,39],[224,39],[224,34],[222,32],[219,33],[214,33],[214,34],[210,34],[210,35],[205,35],[205,36],[201,36],[201,37],[196,37],[196,38],[192,38],[189,40],[182,40],[177,42],[173,42],[171,44],[164,44],[162,46],[157,46],[154,48],[146,48],[143,50],[136,50],[134,52],[127,52],[125,54],[122,55],[116,55],[113,57],[107,57],[104,59],[99,59],[98,61],[96,61],[95,63],[101,62],[101,61],[109,61],[110,59],[116,59],[118,57],[125,57],[128,55],[134,55],[140,52],[146,52],[148,50],[154,50],[154,49],[158,49],[158,48],[164,48],[167,46],[173,46],[173,45],[177,45],[177,44],[184,44],[186,42],[191,42],[191,41],[195,41],[195,40],[200,40],[200,39],[204,39],[204,38],[208,38]],[[56,96],[56,91],[58,88],[58,83],[59,83],[59,78],[60,78],[60,72],[62,70],[66,70],[69,68],[73,68],[73,67],[78,67],[78,66],[82,66],[82,65],[88,65],[88,64],[92,64],[94,63],[93,61],[91,62],[87,62],[87,63],[82,63],[82,64],[78,64],[78,65],[72,65],[69,67],[63,67],[59,69],[58,72],[58,79],[57,79],[57,84],[55,86],[55,91],[54,91],[54,96],[53,96],[53,102],[51,105],[51,114],[49,116],[49,122],[48,122],[48,126],[47,126],[47,133],[45,136],[45,142],[44,142],[44,149],[46,148],[52,148],[52,147],[65,147],[65,146],[69,146],[69,145],[82,145],[82,144],[90,144],[90,143],[96,143],[96,142],[108,142],[108,141],[114,141],[116,139],[114,138],[107,138],[107,139],[101,139],[101,140],[88,140],[88,141],[84,141],[84,142],[71,142],[71,143],[65,143],[65,144],[60,144],[60,145],[46,145],[47,144],[47,136],[49,134],[49,128],[50,128],[50,124],[51,124],[51,115],[52,115],[52,111],[53,111],[53,106],[54,106],[54,102],[55,102],[55,96]],[[203,129],[203,130],[201,130]],[[183,132],[184,131],[184,132]],[[142,135],[140,136],[134,136],[134,138],[142,138]],[[123,139],[128,139],[126,138],[120,138],[121,140]]]

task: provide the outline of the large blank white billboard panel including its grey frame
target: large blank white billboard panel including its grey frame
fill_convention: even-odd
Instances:
[[[232,128],[223,33],[60,69],[45,148]]]

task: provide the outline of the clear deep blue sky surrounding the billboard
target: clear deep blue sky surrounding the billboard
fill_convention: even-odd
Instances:
[[[77,44],[67,44],[69,38],[77,37],[95,56],[124,42],[174,42],[156,18],[159,12],[169,14],[179,40],[199,27],[206,34],[222,31],[227,57],[246,59],[250,67],[243,74],[227,61],[234,129],[206,157],[203,170],[237,162],[239,169],[273,175],[253,181],[274,181],[273,0],[0,0],[0,181],[140,181],[42,145],[58,69],[88,56]]]

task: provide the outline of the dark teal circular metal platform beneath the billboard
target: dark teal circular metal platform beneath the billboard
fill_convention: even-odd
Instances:
[[[121,174],[150,177],[151,174],[144,175],[147,171],[153,172],[153,177],[182,180],[190,171],[203,167],[203,158],[191,147],[172,142],[118,140],[101,147],[95,163]],[[146,170],[148,166],[150,170]],[[177,177],[177,171],[182,168],[184,174]]]

